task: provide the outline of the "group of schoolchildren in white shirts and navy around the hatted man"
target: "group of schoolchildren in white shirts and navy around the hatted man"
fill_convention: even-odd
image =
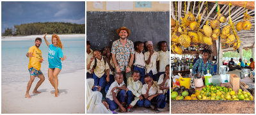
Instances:
[[[86,41],[87,73],[86,79],[94,80],[93,91],[104,89],[110,111],[118,107],[121,112],[131,112],[134,105],[150,108],[164,108],[170,99],[170,53],[167,42],[160,43],[161,50],[156,52],[151,41],[145,43],[148,51],[143,54],[144,43],[136,42],[132,75],[127,79],[127,88],[122,73],[115,72],[111,59],[111,48],[105,47],[102,53],[90,49]],[[104,55],[104,56],[103,56]],[[157,77],[159,80],[157,82]],[[166,100],[167,96],[167,100]]]

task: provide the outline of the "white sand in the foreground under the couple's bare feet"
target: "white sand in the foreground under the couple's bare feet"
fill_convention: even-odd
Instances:
[[[59,97],[54,97],[54,88],[45,73],[45,81],[38,88],[39,94],[32,91],[39,81],[35,78],[29,95],[25,98],[28,82],[12,82],[12,84],[2,84],[2,114],[72,114],[85,113],[85,70],[77,70],[74,73],[58,75]],[[29,79],[28,79],[29,81]]]

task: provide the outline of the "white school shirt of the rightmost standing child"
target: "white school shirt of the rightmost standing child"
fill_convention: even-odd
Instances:
[[[159,53],[159,72],[165,72],[165,66],[170,65],[170,52],[166,50],[158,51]]]

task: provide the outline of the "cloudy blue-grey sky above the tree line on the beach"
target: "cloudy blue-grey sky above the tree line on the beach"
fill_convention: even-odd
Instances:
[[[2,31],[24,23],[71,22],[85,24],[85,2],[2,1]]]

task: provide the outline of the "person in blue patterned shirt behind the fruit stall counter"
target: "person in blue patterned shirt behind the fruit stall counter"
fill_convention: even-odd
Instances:
[[[207,70],[209,70],[210,74],[213,74],[213,63],[211,60],[208,59],[210,56],[211,51],[209,49],[202,50],[203,58],[198,59],[193,66],[193,74],[197,73],[196,68],[198,68],[198,72],[204,72],[204,75],[207,74]]]

